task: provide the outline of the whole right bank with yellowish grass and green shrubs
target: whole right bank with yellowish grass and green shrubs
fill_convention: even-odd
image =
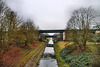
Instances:
[[[91,67],[100,67],[100,43],[87,42],[87,50],[80,54],[76,54],[78,51],[72,51],[74,46],[73,42],[55,43],[55,55],[59,67],[84,67],[87,64]]]

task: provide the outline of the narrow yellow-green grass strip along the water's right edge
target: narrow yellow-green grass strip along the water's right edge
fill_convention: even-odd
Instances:
[[[65,62],[60,56],[60,51],[65,47],[65,42],[57,42],[54,44],[55,56],[57,59],[58,67],[69,67],[69,64]]]

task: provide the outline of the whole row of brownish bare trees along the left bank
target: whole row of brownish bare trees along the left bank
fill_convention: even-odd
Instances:
[[[29,46],[38,38],[33,21],[24,21],[0,0],[0,51],[6,51],[10,45]]]

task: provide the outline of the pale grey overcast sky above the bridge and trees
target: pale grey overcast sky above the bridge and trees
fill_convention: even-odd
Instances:
[[[24,18],[31,18],[40,29],[65,29],[71,13],[80,7],[100,9],[100,0],[6,0]]]

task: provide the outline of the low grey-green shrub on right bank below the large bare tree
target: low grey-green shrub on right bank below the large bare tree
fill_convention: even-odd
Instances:
[[[61,57],[70,64],[70,67],[87,67],[94,62],[95,58],[92,53],[72,54],[73,49],[74,47],[68,46],[60,52]]]

